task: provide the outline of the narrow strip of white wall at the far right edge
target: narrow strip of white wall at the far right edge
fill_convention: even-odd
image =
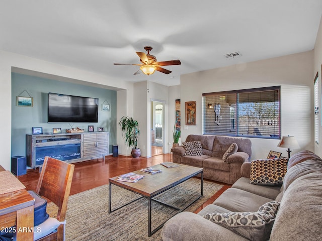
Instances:
[[[321,89],[322,89],[322,18],[320,21],[319,29],[316,36],[315,46],[314,46],[314,76],[318,72],[318,84],[319,84],[319,90],[318,90],[318,96],[319,96],[319,138],[318,138],[318,144],[314,144],[314,153],[318,156],[322,157],[322,103],[321,103]],[[313,78],[312,78],[312,84],[313,84]]]

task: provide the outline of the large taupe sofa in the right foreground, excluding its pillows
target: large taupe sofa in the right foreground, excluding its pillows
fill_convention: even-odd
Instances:
[[[203,215],[256,212],[270,201],[279,202],[279,209],[265,230],[268,237],[264,240],[322,240],[322,159],[310,151],[294,154],[288,161],[283,185],[278,186],[250,184],[250,162],[243,164],[241,173],[243,177],[198,214],[182,212],[169,219],[162,229],[163,240],[263,240],[257,236],[247,239],[236,229],[214,223]]]

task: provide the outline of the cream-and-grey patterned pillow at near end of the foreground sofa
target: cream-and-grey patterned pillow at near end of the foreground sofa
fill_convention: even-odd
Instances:
[[[279,209],[279,202],[267,202],[257,212],[207,213],[203,217],[249,240],[266,241]]]

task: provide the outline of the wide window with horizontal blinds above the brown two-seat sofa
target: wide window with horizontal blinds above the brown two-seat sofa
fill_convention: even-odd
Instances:
[[[203,134],[280,138],[280,86],[203,94]]]

